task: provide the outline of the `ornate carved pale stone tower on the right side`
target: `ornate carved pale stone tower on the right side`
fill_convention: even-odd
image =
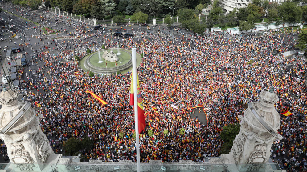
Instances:
[[[280,117],[274,107],[277,101],[278,97],[272,88],[261,91],[260,101],[249,103],[244,116],[239,115],[240,132],[229,153],[235,163],[268,163],[273,141],[282,139],[277,134],[280,128]]]

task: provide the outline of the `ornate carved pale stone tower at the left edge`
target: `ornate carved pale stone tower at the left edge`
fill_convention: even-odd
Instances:
[[[29,102],[19,102],[18,92],[0,93],[0,138],[6,144],[11,163],[46,163],[54,154],[39,126],[39,117]]]

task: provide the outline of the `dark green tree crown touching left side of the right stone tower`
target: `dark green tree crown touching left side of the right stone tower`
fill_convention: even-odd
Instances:
[[[223,130],[220,134],[221,139],[224,142],[232,143],[235,140],[235,136],[237,136],[240,132],[240,124],[228,124],[227,126],[223,126]],[[232,144],[231,144],[232,146]]]

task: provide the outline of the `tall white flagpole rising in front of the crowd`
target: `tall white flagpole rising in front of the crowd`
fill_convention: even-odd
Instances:
[[[132,74],[133,74],[133,100],[134,100],[134,121],[135,121],[135,140],[137,149],[137,172],[141,171],[140,163],[140,141],[139,141],[139,122],[137,116],[137,52],[132,48]]]

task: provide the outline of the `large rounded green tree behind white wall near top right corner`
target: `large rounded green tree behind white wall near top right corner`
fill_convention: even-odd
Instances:
[[[302,10],[294,2],[286,1],[278,6],[278,14],[283,22],[300,22],[302,18]]]

